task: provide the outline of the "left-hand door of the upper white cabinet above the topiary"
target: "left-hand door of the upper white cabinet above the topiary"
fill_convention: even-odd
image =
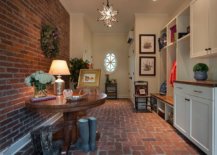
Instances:
[[[208,1],[195,0],[190,6],[191,57],[205,56],[208,54],[205,50],[209,47]]]

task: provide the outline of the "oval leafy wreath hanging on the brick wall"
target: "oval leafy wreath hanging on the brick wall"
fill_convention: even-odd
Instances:
[[[59,37],[57,28],[44,25],[41,30],[41,49],[48,58],[56,57],[59,53]]]

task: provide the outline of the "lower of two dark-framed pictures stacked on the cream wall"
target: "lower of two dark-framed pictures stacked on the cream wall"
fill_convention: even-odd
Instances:
[[[139,57],[139,75],[155,76],[156,74],[156,58],[142,56]]]

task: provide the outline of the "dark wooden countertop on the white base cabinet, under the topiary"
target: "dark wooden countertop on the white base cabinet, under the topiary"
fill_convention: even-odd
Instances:
[[[196,85],[196,86],[217,87],[217,81],[175,81],[175,82]]]

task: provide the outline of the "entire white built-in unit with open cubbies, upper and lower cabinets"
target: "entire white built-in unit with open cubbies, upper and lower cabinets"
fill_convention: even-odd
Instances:
[[[167,96],[174,98],[174,126],[208,155],[217,155],[217,83],[186,81],[200,61],[192,58],[217,55],[216,15],[217,0],[193,0],[160,31],[166,36],[160,50],[160,82],[167,81]],[[175,60],[177,82],[172,87],[169,77]]]

